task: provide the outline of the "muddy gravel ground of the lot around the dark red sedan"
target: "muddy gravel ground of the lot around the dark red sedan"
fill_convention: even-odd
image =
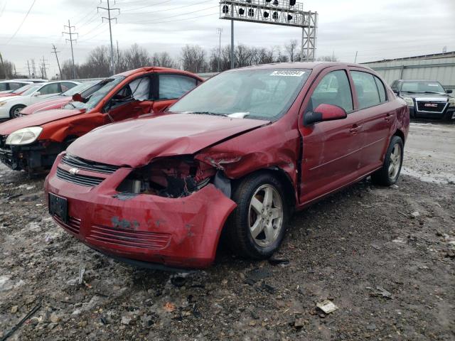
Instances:
[[[169,274],[80,244],[2,167],[0,338],[38,306],[9,340],[455,340],[455,125],[412,124],[404,173],[297,213],[289,263]]]

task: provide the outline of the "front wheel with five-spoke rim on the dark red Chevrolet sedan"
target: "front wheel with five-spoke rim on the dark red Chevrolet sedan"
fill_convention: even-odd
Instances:
[[[289,205],[282,184],[269,173],[244,178],[232,193],[237,207],[228,219],[230,249],[249,259],[267,259],[286,233]]]

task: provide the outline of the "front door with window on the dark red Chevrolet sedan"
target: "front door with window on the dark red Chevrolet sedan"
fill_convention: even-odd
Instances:
[[[362,149],[361,115],[353,112],[353,95],[347,70],[330,67],[316,79],[304,100],[304,114],[319,104],[333,104],[348,113],[346,119],[299,126],[303,137],[300,202],[316,200],[358,178]]]

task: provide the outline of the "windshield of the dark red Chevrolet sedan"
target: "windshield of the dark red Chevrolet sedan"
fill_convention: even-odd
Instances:
[[[291,107],[310,72],[304,69],[223,72],[196,87],[169,111],[275,121]]]

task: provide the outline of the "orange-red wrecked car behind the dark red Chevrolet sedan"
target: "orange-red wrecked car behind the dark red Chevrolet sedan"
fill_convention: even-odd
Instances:
[[[31,175],[48,170],[58,153],[78,137],[98,126],[161,112],[200,82],[203,79],[190,72],[164,67],[114,75],[97,83],[99,90],[90,98],[75,94],[63,109],[0,124],[0,161]]]

